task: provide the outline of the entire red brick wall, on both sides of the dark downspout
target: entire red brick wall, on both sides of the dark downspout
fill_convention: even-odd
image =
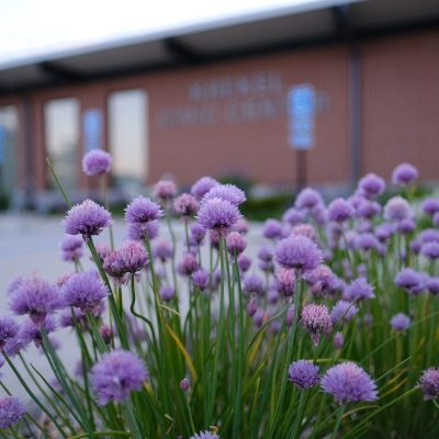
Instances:
[[[360,44],[362,80],[362,173],[374,171],[390,180],[402,161],[419,168],[426,180],[439,180],[439,32],[382,37]],[[349,179],[349,54],[344,45],[322,46],[264,56],[246,57],[210,65],[169,69],[126,78],[101,80],[53,90],[35,91],[33,126],[35,175],[45,185],[43,105],[48,99],[77,97],[81,111],[99,108],[106,126],[106,98],[112,91],[142,88],[148,93],[148,183],[165,172],[180,184],[211,175],[241,173],[260,183],[296,182],[296,151],[288,144],[288,116],[191,127],[160,126],[164,109],[196,106],[190,87],[229,76],[261,71],[279,75],[282,90],[259,95],[286,104],[286,90],[309,83],[325,105],[317,112],[315,146],[308,151],[308,182],[334,183]],[[240,105],[244,98],[233,99]],[[214,102],[219,112],[230,100]],[[0,99],[0,105],[7,102]],[[80,130],[80,127],[79,127]],[[106,127],[105,127],[106,130]],[[103,145],[108,148],[106,133]],[[91,182],[77,166],[82,185]],[[21,167],[21,169],[23,169]]]

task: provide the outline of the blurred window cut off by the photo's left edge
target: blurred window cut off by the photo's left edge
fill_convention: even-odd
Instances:
[[[11,195],[16,185],[19,114],[15,106],[0,106],[0,196]]]

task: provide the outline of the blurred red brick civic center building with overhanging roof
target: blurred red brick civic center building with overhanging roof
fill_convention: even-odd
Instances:
[[[439,2],[317,1],[0,65],[1,189],[239,175],[346,184],[402,161],[439,180]],[[32,192],[32,191],[31,191]]]

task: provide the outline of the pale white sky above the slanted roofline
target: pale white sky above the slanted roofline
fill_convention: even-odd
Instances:
[[[0,64],[311,0],[0,0]]]

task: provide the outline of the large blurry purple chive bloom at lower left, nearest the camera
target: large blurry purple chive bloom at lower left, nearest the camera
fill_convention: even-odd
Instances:
[[[91,383],[98,391],[100,406],[110,401],[125,401],[131,392],[140,390],[146,379],[143,361],[136,354],[121,349],[104,353],[91,370]]]

